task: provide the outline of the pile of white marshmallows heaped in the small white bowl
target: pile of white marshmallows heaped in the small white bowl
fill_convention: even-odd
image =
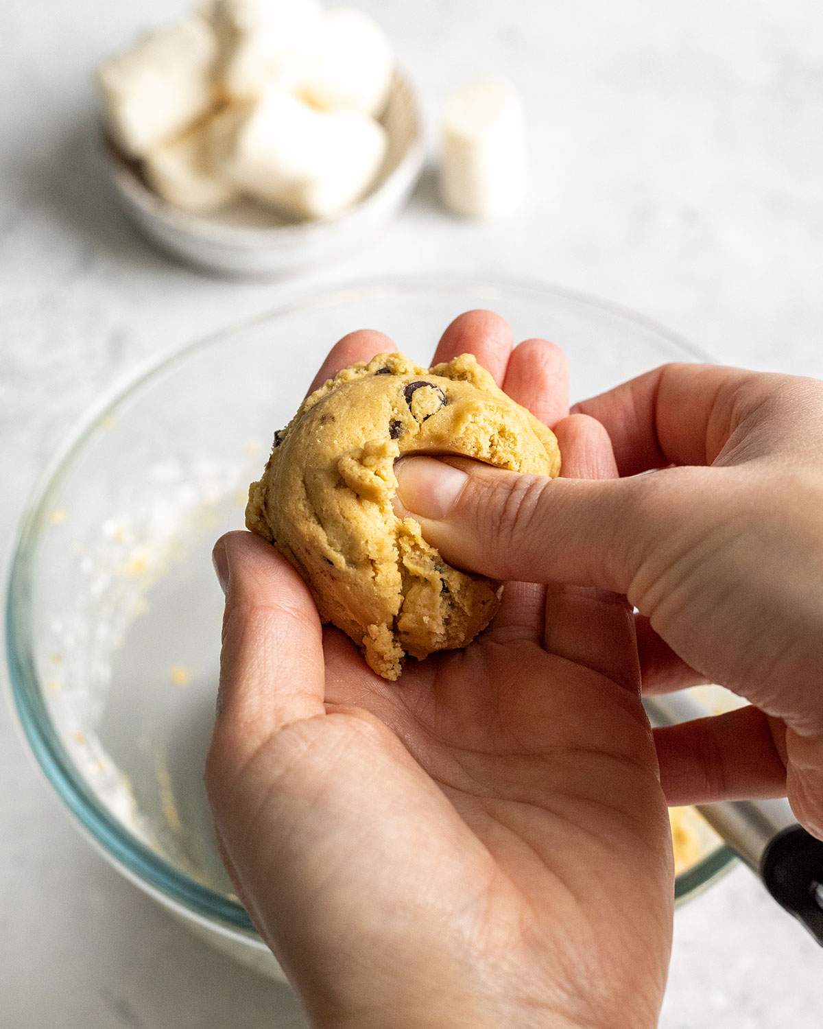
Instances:
[[[331,218],[384,164],[394,55],[371,19],[318,0],[210,0],[98,72],[110,134],[169,203],[243,197]]]

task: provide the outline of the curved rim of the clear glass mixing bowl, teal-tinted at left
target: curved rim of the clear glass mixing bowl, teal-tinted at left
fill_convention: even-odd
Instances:
[[[211,890],[179,872],[126,831],[95,799],[61,744],[43,703],[31,646],[30,583],[32,560],[38,541],[38,526],[48,508],[49,497],[71,471],[74,457],[81,451],[99,421],[112,414],[120,403],[148,385],[153,378],[177,364],[182,364],[192,352],[218,346],[226,338],[244,328],[315,306],[326,307],[355,296],[385,298],[422,290],[429,294],[441,295],[456,293],[459,290],[495,290],[571,300],[637,324],[667,340],[692,359],[711,362],[711,358],[693,344],[629,308],[575,290],[515,277],[434,274],[393,276],[372,279],[365,283],[353,282],[329,286],[320,292],[303,292],[296,298],[280,304],[263,314],[244,319],[184,345],[159,360],[154,358],[146,362],[141,369],[132,370],[124,383],[115,384],[79,421],[75,431],[68,435],[46,466],[32,490],[17,532],[12,539],[6,573],[5,667],[12,710],[16,713],[23,735],[41,771],[73,816],[78,828],[127,878],[180,914],[193,917],[201,922],[205,921],[212,928],[229,935],[240,933],[249,943],[260,942],[245,910],[222,893]],[[704,889],[717,876],[728,870],[733,860],[732,851],[725,846],[709,853],[677,877],[676,900],[683,900]]]

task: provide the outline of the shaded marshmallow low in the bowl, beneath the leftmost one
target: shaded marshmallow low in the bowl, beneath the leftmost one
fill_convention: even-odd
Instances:
[[[205,214],[240,198],[240,189],[212,166],[214,122],[220,119],[217,115],[200,122],[145,155],[143,172],[149,185],[175,207]]]

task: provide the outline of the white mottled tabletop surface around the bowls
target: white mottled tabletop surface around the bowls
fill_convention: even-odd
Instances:
[[[446,88],[489,68],[523,88],[530,203],[504,224],[464,224],[437,207],[426,180],[389,234],[318,281],[429,269],[526,275],[637,308],[721,361],[823,376],[819,3],[363,6],[418,79],[430,126]],[[6,540],[38,466],[96,394],[147,356],[294,288],[221,282],[156,253],[123,222],[90,158],[90,69],[177,7],[0,4]],[[822,973],[811,939],[738,870],[677,916],[661,1025],[812,1029]],[[4,711],[0,1023],[301,1024],[285,989],[213,954],[93,853]]]

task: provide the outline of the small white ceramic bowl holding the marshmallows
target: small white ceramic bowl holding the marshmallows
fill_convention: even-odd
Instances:
[[[271,209],[244,201],[211,215],[169,204],[150,189],[135,162],[107,142],[104,159],[135,224],[183,260],[221,275],[267,278],[316,268],[374,236],[408,200],[425,157],[420,109],[410,81],[395,73],[381,121],[389,137],[383,168],[368,193],[336,218],[279,222]]]

